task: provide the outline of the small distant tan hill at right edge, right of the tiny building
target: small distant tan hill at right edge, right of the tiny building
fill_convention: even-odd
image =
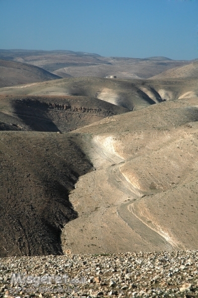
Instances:
[[[189,78],[198,77],[198,61],[193,62],[189,65],[173,68],[165,71],[161,74],[157,74],[150,79],[161,79],[161,78]]]

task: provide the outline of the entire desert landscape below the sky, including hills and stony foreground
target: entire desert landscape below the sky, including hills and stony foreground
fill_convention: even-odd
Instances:
[[[0,297],[197,297],[198,62],[0,59]]]

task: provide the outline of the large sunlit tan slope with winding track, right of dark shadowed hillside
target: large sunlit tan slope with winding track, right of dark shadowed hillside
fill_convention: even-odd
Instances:
[[[198,98],[78,129],[96,171],[69,196],[79,217],[63,249],[104,253],[198,247]],[[73,134],[73,133],[70,133]]]

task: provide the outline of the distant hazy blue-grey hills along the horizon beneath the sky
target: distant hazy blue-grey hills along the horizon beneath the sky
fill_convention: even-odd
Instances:
[[[139,59],[102,57],[85,52],[34,50],[0,50],[0,59],[38,66],[62,77],[117,75],[118,78],[148,78],[192,63],[166,57]]]

